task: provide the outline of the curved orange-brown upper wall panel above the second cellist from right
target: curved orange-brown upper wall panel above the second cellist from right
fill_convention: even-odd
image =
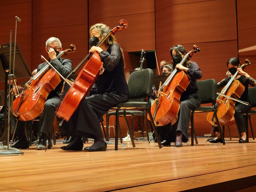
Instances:
[[[235,39],[236,7],[233,0],[184,3],[156,11],[157,49],[173,44]]]

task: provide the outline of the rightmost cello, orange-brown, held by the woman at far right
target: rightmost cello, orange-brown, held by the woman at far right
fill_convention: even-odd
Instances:
[[[245,69],[246,66],[250,65],[250,60],[246,59],[245,64],[242,64],[240,68]],[[239,71],[237,71],[229,80],[228,84],[222,89],[221,93],[217,93],[216,105],[217,105],[217,118],[220,123],[220,126],[226,125],[231,121],[235,113],[235,103],[236,101],[243,104],[247,102],[238,100],[242,93],[245,91],[244,85],[238,80],[235,80]],[[209,112],[207,114],[207,121],[213,126],[217,126],[216,119],[214,118],[214,112]]]

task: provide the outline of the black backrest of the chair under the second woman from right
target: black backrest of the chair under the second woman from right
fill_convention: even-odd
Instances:
[[[214,79],[196,82],[202,104],[215,103],[217,98],[217,82]]]

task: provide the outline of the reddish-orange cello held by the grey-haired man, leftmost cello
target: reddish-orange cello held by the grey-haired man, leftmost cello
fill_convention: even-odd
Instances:
[[[60,58],[63,54],[76,51],[74,44],[57,55]],[[51,66],[52,67],[52,66]],[[46,65],[24,86],[23,91],[13,102],[13,114],[20,121],[30,121],[38,117],[44,110],[44,103],[49,93],[61,82],[58,71]]]

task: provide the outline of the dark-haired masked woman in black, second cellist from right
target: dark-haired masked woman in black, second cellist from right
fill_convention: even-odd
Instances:
[[[200,106],[201,100],[198,95],[198,87],[196,85],[196,81],[201,79],[202,72],[200,71],[198,65],[190,61],[189,58],[185,61],[182,66],[179,64],[184,58],[184,55],[187,54],[186,49],[182,45],[176,45],[171,47],[170,49],[171,57],[172,57],[172,66],[175,69],[183,70],[189,77],[190,83],[181,95],[180,108],[178,113],[178,119],[176,123],[172,126],[173,130],[176,130],[176,140],[175,147],[182,147],[182,142],[187,142],[188,139],[188,129],[189,129],[189,121],[190,121],[190,111]],[[170,136],[170,140],[166,140],[165,142],[173,142]],[[166,145],[166,144],[165,144]]]

